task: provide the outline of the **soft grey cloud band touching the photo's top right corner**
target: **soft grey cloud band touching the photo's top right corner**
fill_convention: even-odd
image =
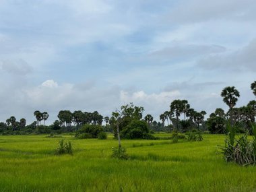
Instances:
[[[254,0],[179,1],[169,18],[177,24],[209,20],[255,20],[255,8]]]

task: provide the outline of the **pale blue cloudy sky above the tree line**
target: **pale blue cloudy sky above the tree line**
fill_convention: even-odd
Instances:
[[[0,0],[0,121],[133,102],[155,120],[175,99],[208,115],[255,99],[255,0]],[[47,121],[46,121],[47,124]]]

